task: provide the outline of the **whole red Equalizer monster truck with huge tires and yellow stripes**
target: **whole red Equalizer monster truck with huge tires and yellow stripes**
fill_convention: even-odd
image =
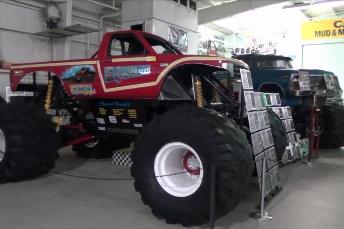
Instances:
[[[95,69],[94,81],[64,80],[64,73],[73,75],[85,65]],[[0,182],[49,172],[60,147],[73,145],[78,155],[99,158],[135,141],[134,186],[155,216],[184,226],[207,222],[215,163],[216,217],[221,217],[238,204],[254,168],[245,164],[252,161],[252,148],[234,120],[239,107],[228,96],[230,88],[213,75],[233,68],[248,66],[183,55],[161,37],[140,31],[105,34],[91,58],[13,65],[11,90],[33,96],[21,104],[13,97],[0,109]],[[46,84],[37,82],[39,72],[45,72]],[[61,124],[65,116],[70,123]],[[173,173],[180,174],[162,176]]]

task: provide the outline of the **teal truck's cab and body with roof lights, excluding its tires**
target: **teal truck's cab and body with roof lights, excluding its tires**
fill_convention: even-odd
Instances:
[[[291,58],[270,54],[244,54],[232,58],[240,59],[249,65],[253,88],[259,92],[279,93],[282,106],[302,106],[309,108],[310,101],[316,93],[319,106],[326,98],[340,97],[342,89],[338,77],[333,72],[320,69],[296,69],[291,65]],[[300,88],[299,72],[309,74],[310,89]],[[324,74],[331,74],[335,87],[326,87]]]

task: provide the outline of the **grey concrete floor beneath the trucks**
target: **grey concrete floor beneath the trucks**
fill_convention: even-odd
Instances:
[[[129,167],[78,159],[70,148],[60,155],[54,171],[130,177]],[[216,228],[343,228],[344,149],[323,150],[320,156],[313,167],[298,162],[281,168],[283,190],[266,207],[271,222],[249,218],[259,202],[258,190],[249,189],[235,210],[216,220]],[[133,181],[49,173],[0,187],[0,228],[182,228],[156,219],[142,204]]]

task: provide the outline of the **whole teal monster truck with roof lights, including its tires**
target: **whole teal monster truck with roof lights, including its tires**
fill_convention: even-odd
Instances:
[[[295,130],[305,137],[309,110],[316,93],[318,107],[321,109],[320,143],[322,149],[334,149],[344,146],[344,106],[342,104],[342,89],[338,77],[332,73],[319,69],[295,69],[291,65],[291,58],[267,54],[234,55],[249,65],[254,91],[279,93],[282,106],[290,106]],[[240,78],[239,68],[235,70],[234,78]],[[307,89],[299,79],[299,72],[309,74]],[[332,81],[326,86],[324,77]],[[222,74],[218,79],[225,78]],[[329,89],[331,88],[331,89]]]

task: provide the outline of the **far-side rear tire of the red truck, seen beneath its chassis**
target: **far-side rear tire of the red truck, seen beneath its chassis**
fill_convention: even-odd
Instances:
[[[90,143],[75,144],[72,150],[79,157],[104,159],[112,157],[114,150],[128,148],[131,142],[129,139],[124,138],[116,138],[114,140],[99,139]]]

